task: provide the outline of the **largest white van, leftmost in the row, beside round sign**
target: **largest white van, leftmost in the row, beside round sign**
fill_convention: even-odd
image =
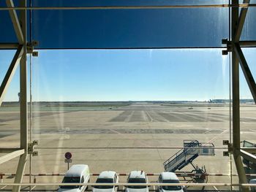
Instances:
[[[77,164],[72,165],[64,176],[62,183],[89,183],[90,171],[88,165]],[[86,185],[61,185],[58,192],[81,192],[85,191]]]

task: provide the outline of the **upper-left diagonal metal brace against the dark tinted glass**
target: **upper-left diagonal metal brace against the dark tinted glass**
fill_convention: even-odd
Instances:
[[[6,4],[7,4],[8,8],[15,7],[12,0],[6,0]],[[15,34],[18,38],[18,42],[19,42],[19,44],[23,44],[23,33],[21,30],[20,22],[18,20],[18,15],[17,15],[15,9],[10,9],[9,13],[10,13],[10,17],[12,19],[12,24],[13,24],[13,27],[15,30]]]

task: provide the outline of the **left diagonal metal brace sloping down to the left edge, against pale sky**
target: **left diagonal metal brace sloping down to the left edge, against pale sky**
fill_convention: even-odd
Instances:
[[[15,74],[15,70],[19,64],[20,58],[23,54],[23,46],[20,45],[18,47],[18,50],[16,51],[12,63],[9,66],[9,69],[7,70],[7,74],[4,76],[3,82],[1,82],[1,87],[0,87],[0,106],[2,101],[4,100],[4,95],[7,91],[7,88],[12,80],[13,75]]]

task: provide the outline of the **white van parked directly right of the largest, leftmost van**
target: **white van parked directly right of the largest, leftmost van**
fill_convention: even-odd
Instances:
[[[96,180],[96,183],[119,183],[119,177],[116,172],[105,171],[101,172]],[[93,192],[115,192],[118,186],[114,185],[95,185]]]

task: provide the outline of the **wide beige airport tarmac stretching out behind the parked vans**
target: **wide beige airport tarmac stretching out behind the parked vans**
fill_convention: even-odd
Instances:
[[[242,106],[241,141],[246,139],[256,143],[255,123],[255,106]],[[18,128],[19,112],[0,110],[1,146],[18,147]],[[66,172],[64,153],[67,151],[72,153],[72,164],[88,164],[92,173],[105,170],[159,173],[164,171],[163,162],[183,147],[184,140],[198,140],[211,142],[217,149],[214,156],[199,156],[193,164],[205,166],[208,173],[236,174],[236,166],[230,164],[230,157],[222,155],[225,151],[222,140],[230,140],[230,108],[224,105],[134,103],[112,109],[97,107],[95,110],[35,108],[32,139],[39,141],[36,146],[39,155],[31,158],[31,173]],[[18,158],[1,164],[0,172],[15,173],[17,164]],[[192,165],[188,165],[181,171],[191,172],[192,169]],[[29,173],[29,162],[26,164],[26,173]],[[125,182],[126,178],[121,177],[121,181]],[[34,177],[31,179],[33,181]],[[60,176],[36,177],[37,183],[59,183],[61,179]],[[154,183],[157,177],[150,177],[149,180]],[[208,183],[230,183],[230,180],[229,176],[208,177]],[[232,180],[238,183],[236,176]],[[4,182],[12,181],[12,178],[4,178]],[[23,181],[28,182],[29,177],[24,177]],[[216,188],[230,189],[206,189],[216,191]],[[50,190],[47,186],[35,189]]]

